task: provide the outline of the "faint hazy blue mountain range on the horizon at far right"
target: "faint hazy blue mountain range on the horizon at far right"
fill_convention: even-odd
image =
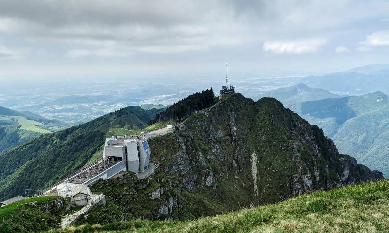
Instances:
[[[367,94],[382,91],[389,94],[389,65],[373,64],[344,72],[308,76],[301,82],[339,94]]]

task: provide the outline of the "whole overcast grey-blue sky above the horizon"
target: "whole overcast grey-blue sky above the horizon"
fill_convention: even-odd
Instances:
[[[389,2],[0,0],[0,79],[308,75],[389,63]]]

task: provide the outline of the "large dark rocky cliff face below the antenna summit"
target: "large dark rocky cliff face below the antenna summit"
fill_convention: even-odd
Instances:
[[[149,143],[155,175],[92,186],[133,218],[191,219],[383,178],[273,98],[232,95]]]

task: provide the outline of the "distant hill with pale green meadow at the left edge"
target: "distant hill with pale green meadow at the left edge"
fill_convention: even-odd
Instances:
[[[43,133],[72,126],[31,112],[18,112],[0,106],[0,153],[26,143]]]

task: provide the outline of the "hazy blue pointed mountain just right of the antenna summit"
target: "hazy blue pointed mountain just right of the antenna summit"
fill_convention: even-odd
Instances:
[[[337,98],[339,96],[322,88],[311,88],[303,83],[299,83],[291,87],[278,88],[276,90],[265,92],[261,95],[261,97],[276,98],[281,101],[284,106],[289,107],[294,103],[326,98]]]

